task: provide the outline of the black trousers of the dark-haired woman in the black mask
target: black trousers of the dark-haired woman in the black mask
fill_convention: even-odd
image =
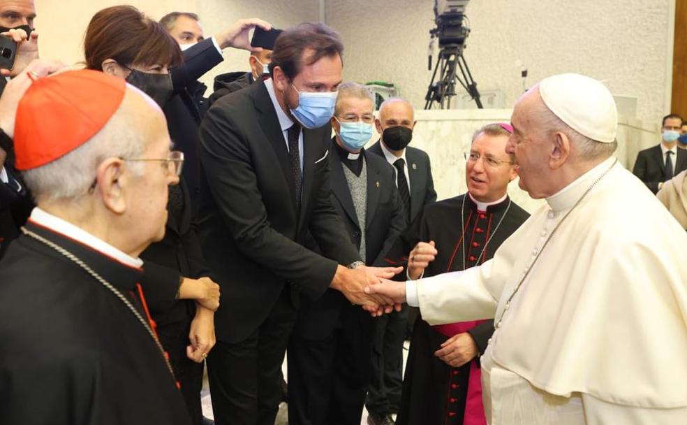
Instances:
[[[202,407],[200,390],[202,389],[203,363],[195,363],[186,356],[191,322],[158,325],[157,333],[160,343],[170,356],[170,364],[177,382],[182,386],[182,396],[186,408],[193,419],[193,425],[202,424]]]

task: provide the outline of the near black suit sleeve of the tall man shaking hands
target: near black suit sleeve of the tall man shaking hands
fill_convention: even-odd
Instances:
[[[200,160],[216,209],[242,254],[272,273],[322,294],[334,277],[337,261],[306,249],[269,224],[253,152],[239,127],[231,113],[217,106],[208,111],[200,127]],[[322,196],[328,199],[328,190],[327,184],[327,193],[319,194],[320,209],[330,208],[322,200]],[[321,210],[313,214],[313,228],[318,229],[318,242],[329,244],[320,228],[331,220],[317,217],[322,214]]]

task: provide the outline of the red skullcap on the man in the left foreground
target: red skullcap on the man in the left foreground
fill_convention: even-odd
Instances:
[[[89,141],[117,111],[125,92],[124,79],[89,69],[34,80],[17,108],[17,169],[43,166]]]

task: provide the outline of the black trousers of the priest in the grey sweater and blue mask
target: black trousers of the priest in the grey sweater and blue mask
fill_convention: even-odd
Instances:
[[[294,331],[288,345],[289,425],[360,424],[374,325],[368,312],[344,298],[332,333],[313,339]]]

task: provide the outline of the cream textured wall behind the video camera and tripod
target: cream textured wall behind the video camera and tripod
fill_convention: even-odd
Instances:
[[[327,0],[326,22],[346,45],[346,78],[385,80],[424,106],[433,0]],[[478,88],[500,89],[505,108],[529,84],[578,72],[637,97],[637,117],[660,122],[670,101],[674,0],[471,0],[465,57]]]

